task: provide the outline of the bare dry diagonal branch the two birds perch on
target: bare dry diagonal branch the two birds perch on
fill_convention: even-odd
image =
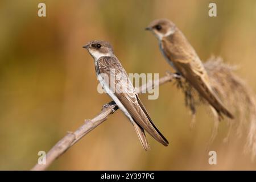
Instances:
[[[158,81],[153,82],[152,84],[142,85],[139,90],[143,93],[148,89],[153,89],[157,86],[165,84],[166,82],[172,81],[175,77],[175,74],[167,73],[166,76],[159,78]],[[75,132],[68,132],[68,134],[65,135],[64,138],[59,140],[59,142],[57,142],[55,146],[53,146],[51,150],[49,150],[49,152],[46,155],[46,164],[36,164],[31,170],[43,171],[47,169],[54,160],[59,158],[59,156],[64,154],[64,152],[67,151],[68,148],[72,147],[73,144],[78,142],[82,137],[84,137],[86,134],[88,134],[90,131],[92,131],[102,122],[104,122],[108,118],[108,116],[110,114],[113,114],[114,111],[117,109],[118,106],[115,105],[115,102],[113,101],[109,102],[108,104],[105,104],[101,112],[98,115],[96,115],[96,117],[94,117],[93,119],[86,119],[84,124],[81,127],[79,127],[79,129],[77,129]]]

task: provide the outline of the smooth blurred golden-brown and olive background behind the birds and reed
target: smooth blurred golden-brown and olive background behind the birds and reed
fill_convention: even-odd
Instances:
[[[46,17],[38,3],[46,3]],[[209,17],[209,3],[217,17]],[[67,131],[97,115],[110,101],[97,92],[93,59],[82,49],[90,40],[112,43],[128,73],[164,73],[171,68],[158,42],[144,28],[168,18],[187,36],[202,60],[214,54],[239,65],[237,75],[256,91],[256,1],[1,1],[0,2],[0,169],[26,170]],[[82,138],[49,169],[176,170],[256,169],[243,154],[245,135],[223,139],[221,122],[205,150],[213,118],[202,106],[194,129],[183,94],[170,83],[160,86],[158,100],[141,96],[151,118],[169,140],[164,147],[150,136],[145,152],[121,111]]]

